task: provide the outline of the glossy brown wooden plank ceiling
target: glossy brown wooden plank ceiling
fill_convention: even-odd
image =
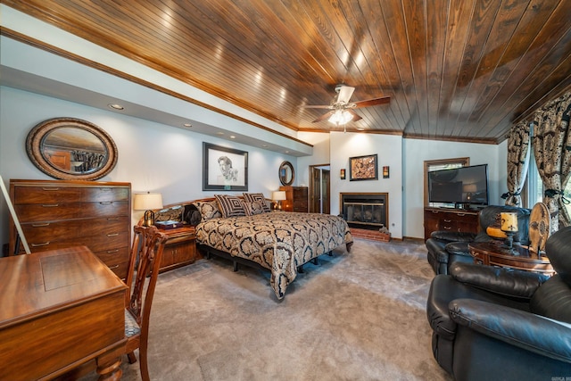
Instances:
[[[500,143],[571,87],[569,0],[2,0],[294,130]]]

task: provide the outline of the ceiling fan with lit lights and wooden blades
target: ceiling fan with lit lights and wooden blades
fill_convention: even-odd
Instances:
[[[329,120],[332,123],[335,123],[337,126],[340,124],[346,124],[350,121],[357,121],[361,120],[362,118],[354,112],[353,109],[360,109],[363,107],[369,106],[377,106],[378,104],[388,104],[391,102],[390,96],[383,96],[380,98],[373,98],[368,99],[367,101],[359,101],[359,102],[349,102],[351,96],[353,95],[353,91],[355,91],[355,87],[346,86],[346,85],[337,85],[335,86],[335,93],[337,95],[333,98],[331,104],[317,104],[317,105],[308,105],[304,106],[307,109],[329,109],[330,112],[326,112],[325,114],[321,115],[318,119],[313,120],[312,123],[317,123],[321,120]]]

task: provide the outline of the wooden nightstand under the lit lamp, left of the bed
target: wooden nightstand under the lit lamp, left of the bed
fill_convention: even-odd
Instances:
[[[160,229],[169,236],[164,246],[160,272],[177,269],[196,261],[196,230],[194,227]]]

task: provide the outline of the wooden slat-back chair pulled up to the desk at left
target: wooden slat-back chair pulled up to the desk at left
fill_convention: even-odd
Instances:
[[[146,357],[149,318],[154,287],[159,276],[162,250],[168,236],[154,226],[136,226],[134,231],[126,281],[129,286],[125,301],[125,335],[128,337],[126,353],[128,362],[132,364],[137,361],[135,350],[139,349],[141,378],[147,381],[149,380]],[[137,271],[135,271],[136,268]],[[145,298],[143,298],[144,293]]]

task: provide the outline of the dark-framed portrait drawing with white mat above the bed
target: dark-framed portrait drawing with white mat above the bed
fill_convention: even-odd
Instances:
[[[248,153],[204,142],[203,190],[247,191]]]

